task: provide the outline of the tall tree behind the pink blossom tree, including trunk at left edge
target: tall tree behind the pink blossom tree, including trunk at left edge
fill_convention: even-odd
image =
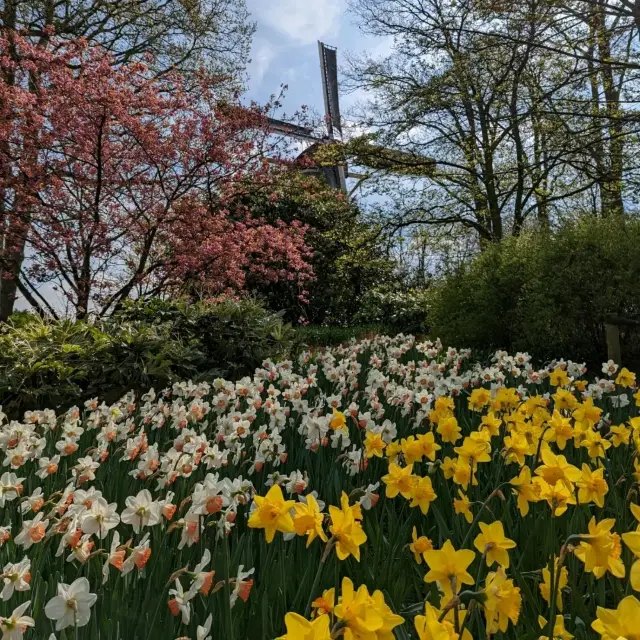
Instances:
[[[109,51],[114,65],[146,61],[157,75],[176,71],[186,74],[194,87],[198,71],[206,68],[224,78],[231,93],[243,84],[254,31],[248,17],[244,0],[0,2],[0,31],[9,42],[12,34],[19,32],[31,44],[51,50],[84,38]],[[9,46],[7,53],[19,63],[19,48]],[[11,85],[14,81],[11,67],[5,67],[0,82]],[[37,84],[32,72],[28,86],[33,90]],[[6,171],[6,167],[0,167],[0,173]],[[6,200],[6,194],[0,194],[0,320],[13,310],[26,249],[17,241],[25,234],[11,227],[15,218],[2,208]],[[28,226],[26,218],[21,224]]]

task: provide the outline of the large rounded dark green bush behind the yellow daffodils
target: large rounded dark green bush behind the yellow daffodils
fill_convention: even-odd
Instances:
[[[485,250],[430,291],[431,332],[447,344],[606,357],[605,319],[640,319],[640,221],[588,219]],[[623,358],[640,356],[627,330]]]

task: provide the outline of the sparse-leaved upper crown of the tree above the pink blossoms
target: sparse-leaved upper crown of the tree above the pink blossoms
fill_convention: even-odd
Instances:
[[[85,38],[116,63],[152,56],[155,71],[209,70],[238,79],[255,25],[245,0],[1,0],[0,28],[34,43]]]

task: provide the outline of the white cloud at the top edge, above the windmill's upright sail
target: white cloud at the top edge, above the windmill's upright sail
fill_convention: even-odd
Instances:
[[[300,44],[336,36],[345,0],[252,0],[258,24],[268,24]]]

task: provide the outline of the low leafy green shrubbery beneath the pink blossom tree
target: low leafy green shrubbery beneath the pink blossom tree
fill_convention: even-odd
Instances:
[[[133,301],[93,325],[16,314],[0,327],[0,405],[16,416],[174,380],[238,377],[289,355],[294,338],[251,300]]]

